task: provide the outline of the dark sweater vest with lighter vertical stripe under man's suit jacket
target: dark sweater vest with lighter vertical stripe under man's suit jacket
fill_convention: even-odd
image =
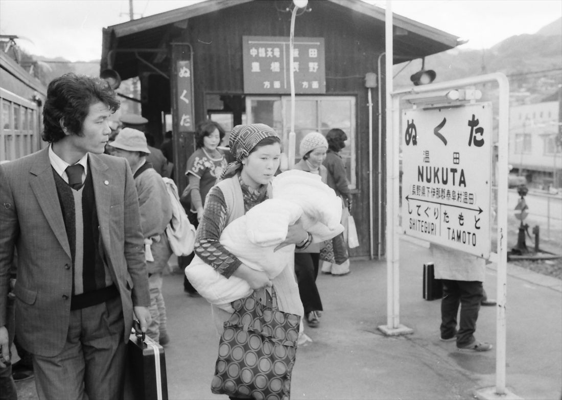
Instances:
[[[72,257],[71,310],[116,297],[119,292],[99,252],[102,244],[92,174],[79,190],[72,189],[54,169],[53,175]]]

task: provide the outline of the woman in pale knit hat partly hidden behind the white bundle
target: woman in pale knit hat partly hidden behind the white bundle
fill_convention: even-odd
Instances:
[[[328,151],[328,142],[324,135],[319,132],[307,134],[302,138],[298,149],[302,158],[294,169],[318,174],[322,181],[327,183],[328,170],[322,165]],[[298,291],[305,308],[306,322],[311,328],[316,328],[320,324],[319,318],[323,310],[320,293],[316,287],[319,260],[320,243],[294,252],[294,271],[297,274]]]

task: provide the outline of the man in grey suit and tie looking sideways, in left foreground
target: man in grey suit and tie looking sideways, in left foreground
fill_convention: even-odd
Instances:
[[[0,166],[0,298],[17,249],[16,335],[40,399],[120,398],[133,313],[143,331],[150,321],[133,175],[102,154],[117,108],[103,80],[56,78],[43,110],[48,148]],[[3,302],[8,361],[5,325]]]

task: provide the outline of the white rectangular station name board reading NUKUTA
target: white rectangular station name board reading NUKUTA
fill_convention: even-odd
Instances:
[[[490,257],[492,105],[402,113],[402,229]]]

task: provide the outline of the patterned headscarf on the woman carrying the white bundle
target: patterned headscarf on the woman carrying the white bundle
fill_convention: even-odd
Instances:
[[[277,132],[265,124],[236,125],[230,131],[230,153],[236,161],[229,163],[224,169],[220,179],[234,175],[242,168],[242,160],[248,157],[256,144],[269,137],[278,137]]]

